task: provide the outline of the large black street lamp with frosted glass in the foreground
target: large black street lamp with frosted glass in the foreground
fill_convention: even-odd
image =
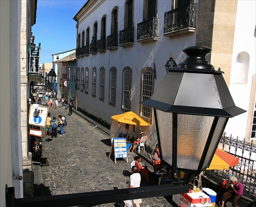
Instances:
[[[183,49],[187,58],[168,68],[150,99],[162,160],[173,172],[198,175],[210,164],[228,118],[245,112],[234,105],[220,69],[208,63],[208,47]]]

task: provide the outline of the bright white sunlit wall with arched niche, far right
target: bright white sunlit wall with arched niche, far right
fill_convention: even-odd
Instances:
[[[253,91],[252,77],[256,71],[255,8],[255,1],[238,1],[229,90],[236,106],[246,110],[247,113],[230,118],[225,132],[228,136],[232,134],[232,137],[238,136],[241,140],[246,136],[247,119],[252,119],[251,114],[248,114],[248,112],[251,110],[249,108],[250,100],[254,101],[255,95],[255,93],[252,93],[253,97],[251,97],[251,91]],[[238,82],[239,78],[237,76],[239,70],[242,70],[242,65],[237,62],[237,57],[241,53],[244,53],[244,55],[248,54],[249,56],[247,83],[243,82],[242,77],[240,77],[241,82]],[[245,73],[245,71],[242,71],[242,73]],[[253,107],[253,105],[250,107]],[[248,128],[251,130],[251,126],[248,126]]]

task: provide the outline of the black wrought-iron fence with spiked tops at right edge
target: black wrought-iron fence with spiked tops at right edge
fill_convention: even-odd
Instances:
[[[219,147],[222,145],[222,149],[239,158],[238,166],[231,168],[232,175],[236,176],[244,186],[244,194],[256,198],[256,145],[253,142],[247,142],[245,140],[239,140],[226,136],[224,133],[221,137]],[[210,177],[221,183],[223,179],[228,179],[228,170],[206,170],[204,175]]]

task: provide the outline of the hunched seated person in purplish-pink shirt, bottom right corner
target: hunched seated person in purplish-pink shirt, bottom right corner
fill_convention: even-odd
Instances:
[[[224,207],[226,200],[230,198],[233,198],[232,206],[236,207],[238,204],[238,199],[243,195],[244,192],[244,186],[238,181],[238,179],[235,176],[229,177],[229,180],[231,182],[231,190],[228,190],[223,194],[221,198],[222,207]]]

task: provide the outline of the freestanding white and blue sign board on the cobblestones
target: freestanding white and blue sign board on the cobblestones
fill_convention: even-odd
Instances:
[[[126,139],[114,138],[112,144],[114,145],[115,163],[116,163],[116,158],[126,158],[126,162],[128,163]]]

